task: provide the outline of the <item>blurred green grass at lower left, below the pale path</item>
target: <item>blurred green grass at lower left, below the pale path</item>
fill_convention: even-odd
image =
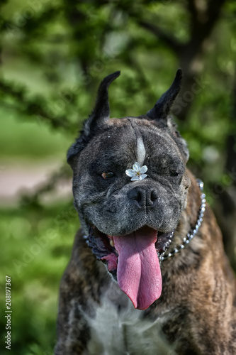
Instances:
[[[69,212],[67,217],[63,212]],[[0,213],[0,304],[5,311],[8,275],[12,354],[53,354],[60,278],[79,226],[77,212],[70,203],[45,209],[5,209]],[[0,318],[1,344],[6,336],[5,320]],[[5,346],[1,349],[1,354],[9,354]]]

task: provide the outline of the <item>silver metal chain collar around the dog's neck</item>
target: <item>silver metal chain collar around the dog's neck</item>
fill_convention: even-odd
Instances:
[[[203,186],[204,186],[203,182],[200,179],[197,179],[197,182],[198,182],[198,186],[199,186],[200,190],[203,191]],[[175,247],[175,249],[170,251],[169,253],[167,251],[164,251],[159,256],[160,261],[164,261],[164,260],[167,260],[168,258],[171,258],[176,253],[179,253],[182,249],[184,249],[187,244],[189,244],[191,239],[193,239],[193,236],[196,235],[198,229],[201,226],[201,223],[203,222],[203,215],[204,215],[205,210],[206,210],[206,195],[202,193],[201,194],[201,207],[198,212],[198,220],[196,222],[196,226],[193,229],[191,229],[189,231],[189,233],[184,237],[183,243],[177,245]],[[173,232],[173,235],[174,235],[174,232]]]

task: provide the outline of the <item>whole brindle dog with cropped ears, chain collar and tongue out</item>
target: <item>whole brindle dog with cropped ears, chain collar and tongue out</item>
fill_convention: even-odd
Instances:
[[[67,154],[81,229],[55,354],[236,354],[235,277],[169,116],[182,72],[147,114],[110,119],[119,75],[101,82]]]

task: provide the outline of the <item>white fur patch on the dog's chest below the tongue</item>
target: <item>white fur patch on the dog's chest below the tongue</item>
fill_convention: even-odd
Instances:
[[[173,347],[162,334],[162,326],[167,318],[145,320],[143,311],[135,310],[130,300],[126,302],[126,296],[126,305],[122,304],[122,297],[119,307],[116,300],[106,294],[101,305],[96,307],[96,316],[86,315],[91,332],[89,354],[164,355],[170,354],[170,351],[174,354]]]

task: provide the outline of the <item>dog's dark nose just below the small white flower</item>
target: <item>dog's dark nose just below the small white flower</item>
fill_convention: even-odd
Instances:
[[[133,200],[138,207],[154,207],[158,201],[157,191],[144,187],[135,187],[130,190],[128,198]]]

